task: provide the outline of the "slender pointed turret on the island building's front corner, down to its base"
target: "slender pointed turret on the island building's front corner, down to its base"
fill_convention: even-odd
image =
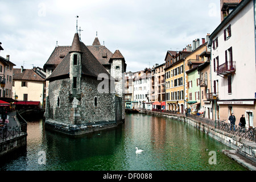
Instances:
[[[80,100],[81,100],[81,76],[82,76],[82,49],[79,35],[76,33],[72,42],[69,61],[70,98],[72,109],[70,121],[73,125],[81,123]]]

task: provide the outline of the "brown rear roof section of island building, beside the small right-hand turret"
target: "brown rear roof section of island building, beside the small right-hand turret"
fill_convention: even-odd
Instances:
[[[113,56],[113,53],[109,51],[105,46],[87,46],[90,52],[97,58],[102,65],[109,64],[110,58]]]

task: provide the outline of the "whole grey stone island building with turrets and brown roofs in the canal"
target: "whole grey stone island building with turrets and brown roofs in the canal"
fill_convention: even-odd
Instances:
[[[56,62],[49,59],[45,64],[44,69],[51,72],[46,79],[48,129],[79,135],[124,121],[125,59],[120,51],[111,53],[97,39],[93,46],[85,46],[76,33],[68,51],[57,52],[55,48],[50,56],[58,60],[67,53],[60,63],[55,67]]]

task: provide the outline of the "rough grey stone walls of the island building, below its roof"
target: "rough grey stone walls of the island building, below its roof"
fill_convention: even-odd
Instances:
[[[121,123],[124,112],[122,97],[98,92],[101,80],[97,78],[84,76],[81,80],[81,94],[70,94],[69,78],[49,82],[46,126],[77,135]]]

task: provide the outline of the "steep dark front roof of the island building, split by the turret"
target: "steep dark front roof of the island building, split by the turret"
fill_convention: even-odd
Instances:
[[[74,38],[75,39],[75,38]],[[81,64],[82,64],[82,75],[97,77],[100,73],[105,73],[108,76],[109,73],[102,66],[102,64],[94,57],[93,53],[90,52],[88,47],[84,43],[80,42],[80,49],[82,52]],[[55,68],[52,74],[47,78],[47,80],[56,80],[61,76],[69,75],[69,61],[70,53],[68,53],[63,61]]]

